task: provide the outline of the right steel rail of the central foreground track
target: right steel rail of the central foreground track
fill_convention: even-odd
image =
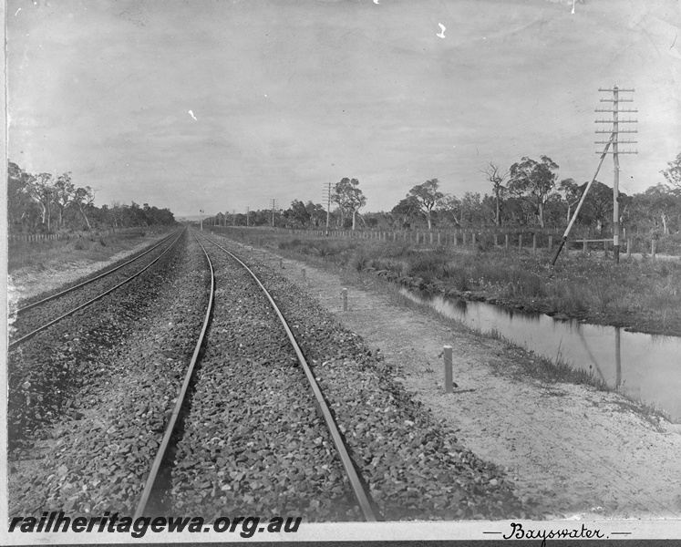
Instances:
[[[272,304],[274,312],[276,313],[276,315],[278,315],[282,325],[284,325],[286,335],[288,335],[289,341],[291,342],[291,345],[294,347],[295,355],[298,356],[298,362],[303,367],[305,377],[307,377],[307,381],[310,383],[310,387],[312,387],[312,391],[315,394],[316,406],[325,420],[326,427],[329,429],[329,432],[331,433],[331,438],[334,440],[335,449],[338,451],[338,456],[340,457],[341,463],[343,464],[343,467],[346,470],[346,476],[348,480],[350,480],[350,485],[352,486],[352,489],[355,493],[356,500],[359,503],[359,507],[362,510],[364,518],[367,522],[377,521],[376,515],[374,514],[374,511],[371,508],[371,503],[368,500],[368,497],[366,496],[366,491],[364,490],[362,482],[361,480],[359,480],[359,476],[356,473],[355,467],[353,465],[353,460],[347,451],[346,443],[341,437],[340,431],[338,430],[338,427],[335,424],[334,416],[331,414],[331,410],[329,410],[328,405],[326,405],[326,401],[324,395],[322,394],[322,390],[319,388],[315,376],[312,374],[312,370],[310,370],[310,366],[307,364],[307,361],[305,360],[303,351],[300,349],[300,346],[298,346],[298,342],[295,340],[294,333],[291,331],[291,328],[289,327],[288,323],[286,323],[286,319],[284,318],[284,315],[279,309],[279,306],[274,303],[272,295],[267,291],[267,289],[261,283],[260,279],[258,279],[257,275],[253,273],[253,270],[251,270],[251,268],[249,268],[245,263],[242,263],[242,261],[235,254],[229,252],[227,249],[225,249],[218,243],[215,243],[210,239],[205,238],[205,236],[204,239],[205,241],[212,243],[225,253],[229,254],[236,262],[240,263],[246,270],[246,272],[251,274],[253,280],[255,280],[255,283],[260,285],[260,288],[263,290],[264,295],[270,301],[270,304]]]

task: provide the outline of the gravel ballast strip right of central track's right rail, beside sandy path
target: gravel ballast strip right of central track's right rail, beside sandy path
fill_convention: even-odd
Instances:
[[[222,238],[216,241],[225,244]],[[530,516],[504,473],[476,458],[435,423],[393,380],[396,371],[361,338],[271,268],[243,253],[242,246],[231,247],[253,266],[287,317],[383,518]]]

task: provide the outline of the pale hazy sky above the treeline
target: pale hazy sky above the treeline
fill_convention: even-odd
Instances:
[[[348,177],[389,211],[542,155],[581,183],[614,85],[638,109],[622,191],[681,151],[676,0],[7,0],[6,19],[9,160],[97,205],[287,208]]]

